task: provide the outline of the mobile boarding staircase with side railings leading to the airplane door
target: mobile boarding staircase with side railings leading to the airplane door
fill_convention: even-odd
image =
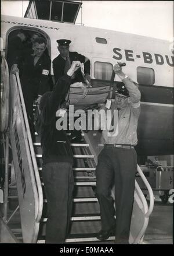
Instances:
[[[26,108],[20,86],[19,74],[10,75],[10,107],[8,128],[3,129],[5,188],[4,209],[1,217],[1,243],[45,243],[46,198],[42,182],[41,157],[42,150],[39,136],[32,143],[28,125]],[[71,136],[71,134],[67,134]],[[100,242],[96,233],[100,230],[99,203],[95,197],[95,167],[99,147],[99,132],[82,131],[82,140],[71,143],[74,153],[74,209],[71,217],[71,229],[66,243]],[[12,152],[12,162],[9,164],[9,150]],[[9,170],[15,173],[16,185],[9,185]],[[133,205],[131,232],[129,243],[143,242],[143,236],[148,225],[148,218],[153,211],[153,191],[142,170],[137,171],[146,185],[150,195],[148,207],[146,198],[135,181],[135,201]],[[16,189],[16,195],[9,195]],[[10,198],[11,196],[11,198]],[[13,198],[12,198],[13,197]],[[17,199],[19,206],[8,213],[9,200]],[[20,211],[19,211],[20,210]],[[19,226],[10,225],[16,214],[19,216]],[[115,216],[115,218],[117,218]],[[110,241],[114,237],[109,237]],[[108,241],[106,241],[108,243]]]

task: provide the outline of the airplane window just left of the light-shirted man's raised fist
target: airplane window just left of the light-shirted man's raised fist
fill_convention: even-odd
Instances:
[[[94,64],[94,76],[96,79],[111,80],[113,64],[96,61]]]

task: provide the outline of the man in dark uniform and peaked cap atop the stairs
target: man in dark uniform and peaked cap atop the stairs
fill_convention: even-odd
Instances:
[[[84,63],[85,78],[90,83],[90,61],[84,55],[78,52],[69,51],[71,40],[59,39],[57,40],[58,50],[60,54],[53,59],[53,72],[55,77],[55,83],[61,76],[68,71],[73,61],[80,61]],[[84,78],[79,68],[71,77],[71,84],[74,82],[84,82]]]

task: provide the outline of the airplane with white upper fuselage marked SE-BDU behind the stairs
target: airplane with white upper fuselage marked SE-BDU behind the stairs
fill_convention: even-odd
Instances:
[[[125,62],[124,72],[132,80],[139,83],[139,89],[142,94],[141,114],[137,129],[139,140],[136,146],[137,155],[139,157],[172,155],[173,52],[170,47],[171,43],[157,38],[79,26],[74,23],[58,22],[57,18],[55,20],[37,19],[36,16],[35,19],[29,18],[28,16],[31,16],[30,7],[31,5],[28,7],[26,17],[1,15],[1,54],[3,57],[1,68],[4,71],[3,82],[5,83],[8,79],[14,82],[13,78],[9,78],[8,68],[4,59],[8,52],[9,38],[14,36],[21,28],[28,31],[28,33],[37,32],[46,38],[48,53],[52,61],[59,54],[56,40],[61,38],[71,40],[70,51],[78,51],[90,59],[90,76],[92,78],[92,87],[94,88],[97,86],[108,86],[113,82],[113,90],[115,90],[117,85],[122,85],[121,80],[117,76],[112,81],[113,66],[117,62]],[[75,15],[77,16],[77,13]],[[52,67],[50,74],[53,79]],[[19,83],[18,78],[17,83]],[[6,95],[8,93],[6,92]],[[9,118],[12,118],[14,138],[11,139],[17,148],[16,161],[19,162],[20,166],[21,200],[24,200],[26,183],[27,180],[30,180],[30,177],[27,178],[27,174],[24,171],[25,160],[23,157],[20,157],[22,149],[19,143],[20,136],[17,134],[15,124],[15,106],[9,115],[8,108],[10,107],[3,103],[3,113],[1,112],[3,114],[1,120],[3,125],[1,124],[1,131],[4,132],[8,129]],[[28,125],[26,127],[28,131]],[[95,140],[99,141],[100,134],[98,133],[93,139],[92,136],[92,132],[89,132],[86,141],[92,143],[92,151],[95,151],[93,155],[96,157],[97,153],[99,153],[97,151],[99,148],[96,148],[95,143],[97,142]],[[30,144],[31,142],[28,145],[31,146]],[[31,153],[33,154],[34,152],[32,151]],[[32,164],[37,165],[35,160],[33,160]],[[35,175],[37,176],[38,174]],[[36,177],[37,179],[38,177]],[[35,193],[37,194],[37,192]],[[39,208],[38,204],[35,206],[37,208],[36,212]],[[25,211],[27,210],[25,209]],[[26,239],[26,241],[28,240]]]

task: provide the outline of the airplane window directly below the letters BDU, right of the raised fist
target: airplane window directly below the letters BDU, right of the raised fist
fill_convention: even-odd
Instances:
[[[155,82],[155,73],[153,68],[137,67],[137,82],[142,85],[153,85]]]

